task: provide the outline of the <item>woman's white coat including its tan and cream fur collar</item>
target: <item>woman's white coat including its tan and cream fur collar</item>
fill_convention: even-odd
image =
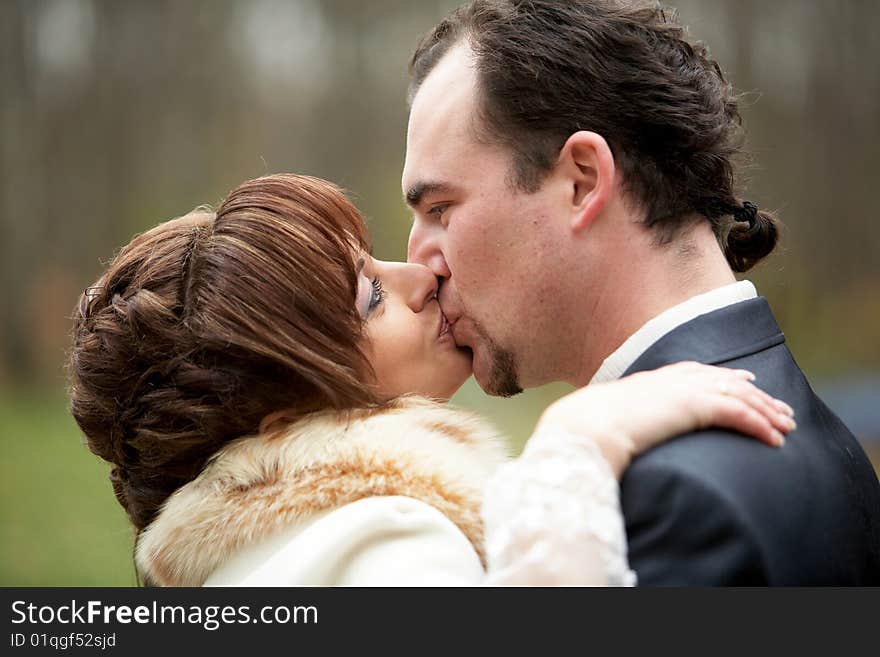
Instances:
[[[505,460],[491,427],[425,400],[317,413],[218,452],[142,532],[137,567],[163,586],[478,583]]]

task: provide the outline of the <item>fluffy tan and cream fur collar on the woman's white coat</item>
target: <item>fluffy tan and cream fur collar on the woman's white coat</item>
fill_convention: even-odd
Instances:
[[[442,511],[485,565],[483,486],[504,459],[482,420],[424,399],[315,413],[221,449],[168,498],[141,533],[135,560],[151,584],[200,586],[237,550],[316,513],[404,495]]]

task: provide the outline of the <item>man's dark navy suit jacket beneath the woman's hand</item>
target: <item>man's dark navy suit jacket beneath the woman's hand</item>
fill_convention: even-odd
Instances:
[[[782,449],[708,430],[636,459],[621,502],[639,584],[880,584],[877,475],[810,388],[766,299],[676,328],[626,373],[683,360],[751,370],[798,427]]]

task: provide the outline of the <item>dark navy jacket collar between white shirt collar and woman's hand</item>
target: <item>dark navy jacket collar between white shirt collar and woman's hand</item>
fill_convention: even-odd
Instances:
[[[624,376],[683,360],[718,365],[784,342],[770,305],[764,297],[758,297],[701,315],[673,329],[639,356]]]

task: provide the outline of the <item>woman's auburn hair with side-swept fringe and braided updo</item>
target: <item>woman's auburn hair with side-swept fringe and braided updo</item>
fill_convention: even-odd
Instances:
[[[267,415],[378,403],[357,307],[363,219],[278,174],[136,236],[80,297],[70,407],[140,531]]]

